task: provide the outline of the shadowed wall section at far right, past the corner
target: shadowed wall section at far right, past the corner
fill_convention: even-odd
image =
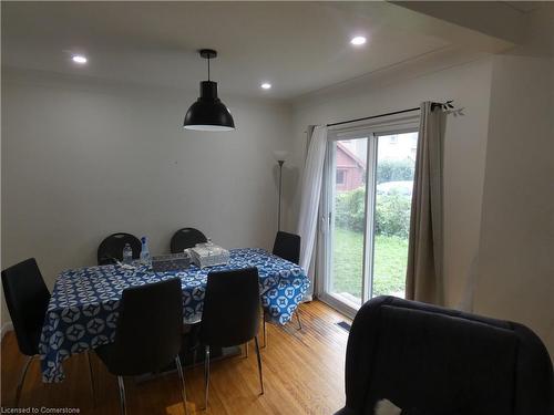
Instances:
[[[474,310],[529,325],[554,360],[554,8],[547,11],[530,15],[526,44],[493,61]]]

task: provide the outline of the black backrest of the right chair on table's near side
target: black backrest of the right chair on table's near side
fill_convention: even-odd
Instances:
[[[214,346],[232,346],[254,339],[259,328],[257,268],[209,272],[199,339]]]

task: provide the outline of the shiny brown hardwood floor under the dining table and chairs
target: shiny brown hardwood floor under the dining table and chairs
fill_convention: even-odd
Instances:
[[[203,369],[185,371],[189,414],[332,414],[345,402],[345,353],[348,333],[336,323],[345,319],[319,301],[301,305],[304,329],[294,320],[286,328],[268,324],[268,347],[261,349],[265,394],[259,395],[256,353],[213,362],[209,404],[203,409]],[[348,321],[348,320],[347,320]],[[263,342],[260,336],[260,342]],[[24,363],[16,335],[1,346],[1,404],[11,406]],[[39,360],[31,364],[20,406],[75,407],[80,414],[119,415],[116,377],[91,353],[96,386],[93,407],[84,354],[64,362],[66,378],[42,384]],[[135,383],[125,380],[127,414],[184,414],[176,373]]]

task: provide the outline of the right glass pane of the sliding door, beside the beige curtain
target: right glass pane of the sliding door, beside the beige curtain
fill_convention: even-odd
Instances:
[[[418,133],[378,137],[371,297],[406,295]]]

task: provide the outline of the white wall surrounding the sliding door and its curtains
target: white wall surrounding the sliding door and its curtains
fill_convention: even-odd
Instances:
[[[445,278],[448,305],[462,301],[480,236],[481,200],[489,122],[491,60],[478,61],[420,75],[386,82],[366,80],[343,92],[306,96],[297,102],[294,134],[301,165],[306,148],[306,126],[327,124],[419,106],[422,101],[454,100],[465,107],[464,116],[448,118],[444,160]],[[297,200],[298,201],[298,200]],[[289,226],[297,220],[291,207]]]

